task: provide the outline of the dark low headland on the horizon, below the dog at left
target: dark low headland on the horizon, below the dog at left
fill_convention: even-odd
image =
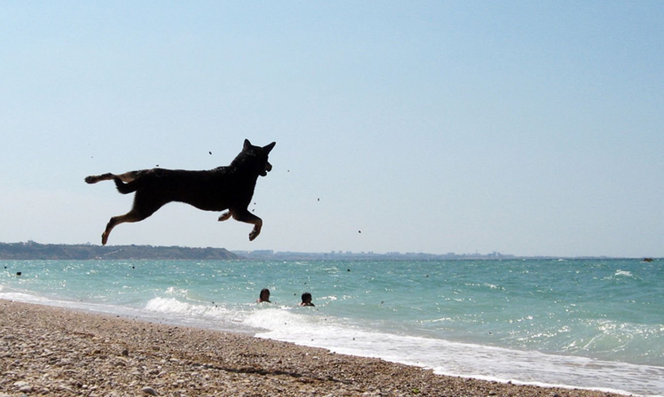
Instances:
[[[238,259],[224,248],[0,243],[1,259]]]

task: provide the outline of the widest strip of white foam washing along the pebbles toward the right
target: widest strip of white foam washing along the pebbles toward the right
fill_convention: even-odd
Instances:
[[[336,353],[380,357],[430,368],[438,374],[622,394],[652,395],[664,390],[664,367],[373,332],[292,311],[258,312],[246,321],[269,329],[258,333],[258,337],[323,347]],[[629,390],[624,389],[625,384],[631,385]]]

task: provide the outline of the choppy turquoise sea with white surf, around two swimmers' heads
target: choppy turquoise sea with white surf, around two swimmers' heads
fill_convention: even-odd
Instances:
[[[664,260],[0,260],[0,298],[664,395]]]

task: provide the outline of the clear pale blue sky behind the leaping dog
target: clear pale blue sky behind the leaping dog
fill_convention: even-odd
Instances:
[[[661,21],[661,1],[5,1],[0,241],[98,244],[131,197],[86,175],[214,168],[248,138],[277,142],[256,241],[172,203],[109,244],[664,256]]]

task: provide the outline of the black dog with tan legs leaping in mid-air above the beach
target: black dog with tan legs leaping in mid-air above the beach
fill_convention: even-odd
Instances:
[[[252,223],[254,229],[249,233],[253,241],[260,234],[263,220],[247,209],[254,196],[258,176],[266,176],[272,170],[268,154],[276,142],[267,146],[254,146],[244,140],[242,152],[229,166],[213,170],[189,171],[151,170],[129,171],[124,174],[91,175],[85,178],[88,184],[102,180],[116,182],[118,192],[128,194],[136,192],[131,211],[112,217],[102,233],[102,245],[106,245],[112,229],[125,222],[138,222],[149,217],[165,203],[179,201],[191,204],[205,211],[228,211],[222,213],[219,221],[233,217],[237,221]]]

